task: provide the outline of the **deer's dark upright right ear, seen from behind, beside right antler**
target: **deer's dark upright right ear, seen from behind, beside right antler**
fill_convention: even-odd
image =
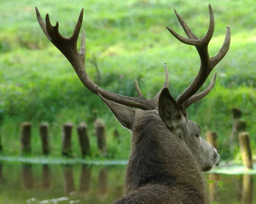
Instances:
[[[168,88],[164,88],[159,96],[158,111],[160,118],[169,128],[175,128],[182,122],[180,107]]]

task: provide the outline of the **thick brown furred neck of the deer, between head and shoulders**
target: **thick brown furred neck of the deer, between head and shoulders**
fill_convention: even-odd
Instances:
[[[146,184],[160,184],[207,201],[201,171],[191,152],[175,137],[166,134],[166,127],[150,122],[133,132],[131,155],[126,169],[125,194]],[[190,195],[187,195],[190,196]],[[206,203],[206,202],[204,202]]]

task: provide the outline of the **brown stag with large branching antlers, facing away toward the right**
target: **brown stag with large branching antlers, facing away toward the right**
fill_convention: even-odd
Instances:
[[[85,70],[85,32],[82,29],[81,48],[77,40],[83,20],[81,9],[71,37],[58,31],[58,21],[52,26],[49,14],[45,22],[35,7],[38,23],[49,41],[59,49],[73,66],[87,89],[106,103],[123,127],[131,132],[131,151],[126,166],[123,195],[114,204],[208,204],[206,184],[202,172],[209,172],[218,163],[219,155],[201,136],[201,128],[188,119],[186,109],[204,98],[215,85],[216,73],[209,86],[198,90],[212,69],[223,59],[230,47],[230,26],[227,26],[224,43],[213,57],[208,45],[212,38],[215,20],[209,4],[209,27],[205,36],[198,39],[174,9],[176,17],[188,38],[166,27],[181,43],[195,46],[201,60],[198,74],[188,88],[175,100],[169,92],[169,74],[166,63],[163,87],[154,96],[143,96],[137,80],[138,97],[109,92],[96,85]]]

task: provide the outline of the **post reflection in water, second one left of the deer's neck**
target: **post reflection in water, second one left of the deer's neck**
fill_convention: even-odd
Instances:
[[[88,167],[86,164],[82,165],[81,174],[80,174],[80,193],[88,196],[90,190],[90,179],[91,179],[91,167]]]

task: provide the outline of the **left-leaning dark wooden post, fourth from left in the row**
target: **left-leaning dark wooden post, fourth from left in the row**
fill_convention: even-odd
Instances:
[[[79,138],[79,144],[81,149],[81,155],[84,158],[84,156],[88,155],[90,156],[90,141],[87,135],[87,125],[82,122],[77,126],[77,134]]]

